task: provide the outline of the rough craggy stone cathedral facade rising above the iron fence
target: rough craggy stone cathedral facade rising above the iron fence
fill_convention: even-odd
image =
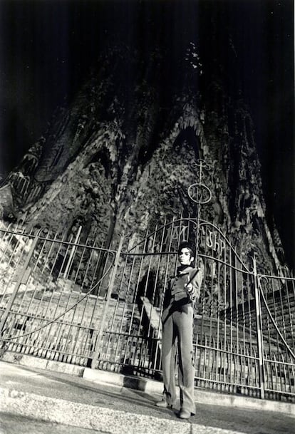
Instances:
[[[159,51],[148,61],[125,46],[106,51],[7,177],[2,217],[58,234],[81,226],[82,241],[100,237],[108,248],[123,229],[130,239],[144,237],[157,223],[195,215],[187,188],[202,159],[212,192],[202,218],[222,230],[245,263],[256,252],[264,273],[280,273],[284,251],[266,221],[249,107],[195,43],[169,83],[163,65]]]

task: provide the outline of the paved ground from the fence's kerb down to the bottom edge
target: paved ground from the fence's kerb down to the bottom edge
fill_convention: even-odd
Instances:
[[[4,362],[0,364],[1,387],[8,393],[11,391],[12,394],[7,395],[11,405],[18,405],[14,407],[15,415],[2,414],[1,434],[110,433],[112,424],[115,433],[138,434],[140,421],[144,426],[141,433],[146,434],[150,434],[150,423],[155,425],[152,432],[157,434],[171,434],[170,426],[175,428],[175,433],[180,434],[183,434],[182,431],[197,434],[225,434],[225,431],[229,434],[295,434],[295,418],[286,413],[197,403],[197,414],[187,423],[177,418],[172,410],[155,407],[155,400],[160,396],[125,387],[90,383],[67,374],[23,368]],[[17,395],[13,391],[20,391],[21,394]],[[219,399],[222,400],[222,395]],[[56,415],[56,405],[61,405],[58,417],[65,417],[59,419],[60,424],[56,420],[54,423],[43,423],[24,417],[33,417],[36,413],[40,417],[48,415],[51,404],[52,417]],[[31,407],[31,413],[26,412],[28,406]],[[81,413],[77,413],[77,409]],[[4,413],[7,410],[3,406],[1,411]],[[103,419],[103,413],[108,417]],[[76,422],[73,423],[74,418]],[[89,422],[91,418],[93,424],[85,425],[84,422]],[[133,420],[133,431],[130,418]],[[67,423],[84,428],[63,425]]]

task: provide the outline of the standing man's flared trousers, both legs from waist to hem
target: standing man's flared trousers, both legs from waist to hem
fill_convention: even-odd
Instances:
[[[192,347],[193,309],[191,304],[167,307],[162,315],[162,373],[164,394],[168,405],[177,400],[175,386],[175,355],[178,348],[178,385],[180,408],[195,414],[194,351]]]

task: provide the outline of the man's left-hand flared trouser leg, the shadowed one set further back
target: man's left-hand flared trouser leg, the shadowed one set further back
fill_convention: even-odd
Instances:
[[[162,324],[162,374],[164,383],[164,394],[168,405],[175,404],[175,354],[176,354],[176,333],[172,321],[172,315],[165,318]]]

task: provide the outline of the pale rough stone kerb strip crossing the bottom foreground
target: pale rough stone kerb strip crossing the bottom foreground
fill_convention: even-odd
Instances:
[[[109,434],[243,434],[0,388],[1,411]]]

